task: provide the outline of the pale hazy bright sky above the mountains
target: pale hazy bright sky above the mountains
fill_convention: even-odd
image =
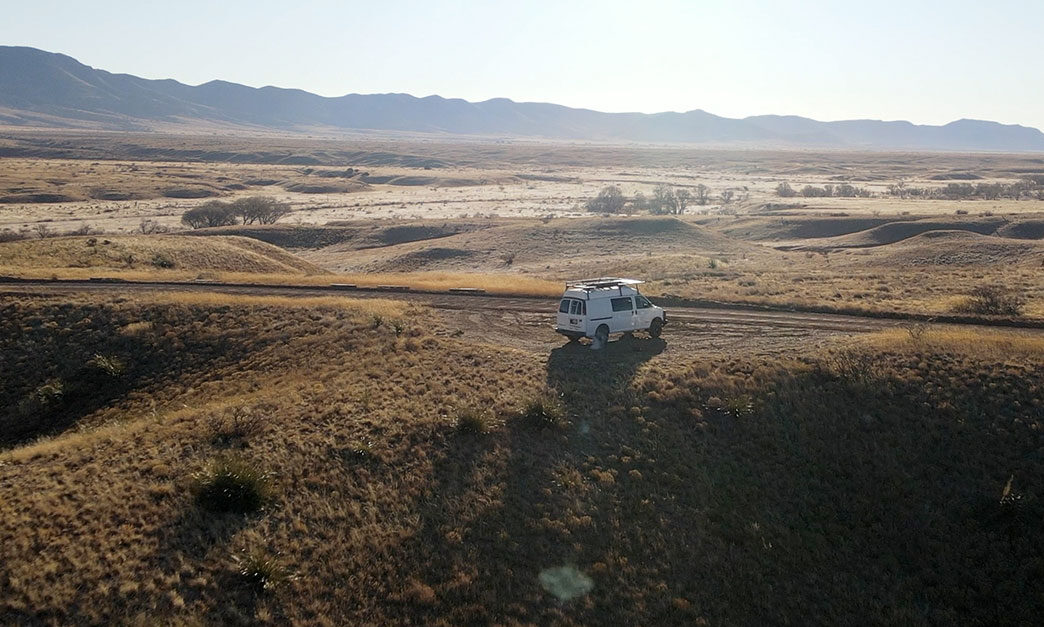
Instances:
[[[1044,1],[2,0],[0,44],[325,96],[1044,128]]]

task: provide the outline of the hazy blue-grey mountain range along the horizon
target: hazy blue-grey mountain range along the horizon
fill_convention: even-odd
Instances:
[[[229,127],[310,134],[376,130],[607,142],[685,142],[875,150],[1044,151],[1036,128],[981,120],[942,126],[705,111],[602,113],[495,98],[350,94],[212,80],[188,86],[113,74],[35,48],[0,46],[0,125],[169,130]]]

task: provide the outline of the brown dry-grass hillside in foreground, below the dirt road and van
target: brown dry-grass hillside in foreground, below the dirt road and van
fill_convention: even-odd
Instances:
[[[3,623],[995,625],[1044,610],[1039,338],[532,355],[387,302],[0,307],[0,367],[23,373],[0,380]],[[204,499],[230,467],[258,508]]]

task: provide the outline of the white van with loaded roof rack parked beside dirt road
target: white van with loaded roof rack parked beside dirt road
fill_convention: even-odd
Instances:
[[[566,284],[554,330],[570,341],[592,338],[595,348],[604,346],[611,333],[648,331],[660,337],[667,314],[638,293],[641,283],[603,276]]]

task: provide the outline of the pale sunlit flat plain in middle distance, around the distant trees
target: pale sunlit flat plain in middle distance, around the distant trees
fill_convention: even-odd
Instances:
[[[45,189],[48,180],[63,182],[62,185],[67,189],[69,185],[78,185],[85,189],[96,189],[98,186],[108,186],[108,189],[114,185],[116,187],[143,185],[141,180],[135,182],[133,176],[179,176],[179,180],[182,182],[252,180],[257,177],[313,183],[329,180],[304,173],[323,168],[300,166],[114,162],[85,168],[82,163],[75,160],[39,160],[31,163],[27,160],[2,160],[0,173],[8,174],[5,178],[8,191]],[[127,168],[130,167],[137,170],[128,172]],[[331,168],[325,169],[331,170]],[[652,188],[659,183],[668,183],[679,189],[683,187],[691,189],[696,185],[709,187],[712,194],[711,201],[706,206],[690,204],[686,213],[691,215],[751,215],[763,213],[765,203],[793,204],[793,211],[825,216],[847,214],[902,217],[955,215],[957,212],[966,212],[972,216],[1017,215],[1044,210],[1044,201],[1040,200],[952,201],[899,199],[883,195],[893,179],[851,180],[853,185],[870,189],[877,194],[872,198],[780,198],[776,195],[775,188],[781,180],[790,183],[794,189],[805,185],[822,186],[837,182],[830,176],[794,174],[783,168],[750,172],[730,167],[729,164],[721,164],[718,167],[699,165],[626,169],[520,165],[501,168],[447,167],[436,170],[376,167],[365,170],[377,179],[400,177],[410,184],[369,185],[361,191],[348,193],[298,193],[288,192],[285,189],[286,185],[254,185],[243,190],[223,191],[220,197],[228,200],[244,195],[275,196],[289,202],[294,210],[282,221],[302,224],[389,218],[574,217],[589,215],[584,210],[584,203],[607,185],[617,185],[630,196],[637,192],[651,195]],[[918,178],[917,172],[911,169],[911,176],[907,179],[908,185],[943,185],[940,182]],[[132,178],[127,178],[128,176]],[[867,176],[870,178],[870,174]],[[98,180],[95,182],[92,177]],[[1012,179],[983,178],[973,183],[989,180]],[[719,194],[723,190],[732,190],[735,200],[722,204]],[[148,193],[148,189],[138,190],[135,193]],[[160,197],[53,203],[0,203],[0,231],[29,231],[35,228],[37,224],[45,224],[56,232],[68,232],[86,224],[105,233],[132,233],[139,228],[144,218],[155,219],[171,228],[181,228],[181,215],[208,199]]]

